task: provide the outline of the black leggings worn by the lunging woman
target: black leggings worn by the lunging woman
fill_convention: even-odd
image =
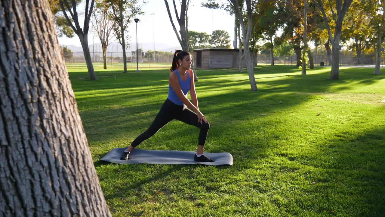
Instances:
[[[198,137],[198,145],[204,146],[206,142],[207,133],[209,132],[210,124],[202,121],[202,124],[198,122],[198,115],[189,110],[186,105],[176,105],[169,99],[164,101],[161,110],[155,117],[150,127],[146,132],[142,133],[132,142],[132,147],[136,147],[141,144],[144,140],[154,136],[164,125],[171,120],[176,119],[186,124],[190,124],[201,129]]]

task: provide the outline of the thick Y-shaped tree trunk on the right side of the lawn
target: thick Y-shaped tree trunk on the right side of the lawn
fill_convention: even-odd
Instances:
[[[340,79],[339,64],[340,64],[340,38],[341,38],[342,22],[353,0],[344,0],[343,2],[342,0],[336,0],[336,5],[334,6],[334,8],[329,0],[329,7],[332,14],[331,19],[335,24],[334,36],[331,33],[331,29],[329,25],[329,22],[331,22],[331,20],[329,19],[328,16],[326,16],[325,8],[323,6],[324,0],[312,0],[312,1],[316,5],[316,7],[318,7],[318,9],[320,9],[322,12],[326,29],[328,30],[329,39],[331,41],[331,49],[332,49],[331,55],[333,57],[333,61],[331,63],[330,79],[338,80]]]

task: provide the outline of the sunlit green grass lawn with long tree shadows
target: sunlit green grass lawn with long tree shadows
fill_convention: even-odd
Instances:
[[[301,76],[261,66],[197,70],[211,123],[207,152],[232,166],[98,161],[147,129],[167,97],[167,69],[122,74],[69,69],[100,185],[113,216],[384,216],[385,76],[370,68]],[[382,73],[385,73],[382,71]],[[103,77],[106,76],[106,77]],[[318,115],[320,114],[320,115]],[[195,151],[198,129],[172,121],[138,148]]]

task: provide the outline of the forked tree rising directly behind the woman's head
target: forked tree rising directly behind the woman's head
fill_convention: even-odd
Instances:
[[[164,3],[166,4],[167,13],[169,15],[170,22],[171,22],[172,28],[174,29],[175,35],[179,41],[179,44],[182,47],[182,50],[187,51],[187,52],[190,52],[190,46],[189,46],[189,41],[188,41],[189,19],[187,17],[187,10],[189,8],[189,2],[190,2],[189,0],[181,0],[181,14],[178,15],[178,10],[176,8],[175,0],[172,0],[172,3],[174,5],[176,20],[179,24],[179,29],[180,29],[179,30],[180,35],[179,35],[177,30],[176,30],[174,21],[172,21],[170,7],[168,5],[168,2],[167,2],[167,0],[164,0]],[[198,77],[196,76],[196,72],[195,72],[195,68],[194,68],[194,62],[191,63],[191,69],[194,72],[194,81],[198,81]]]

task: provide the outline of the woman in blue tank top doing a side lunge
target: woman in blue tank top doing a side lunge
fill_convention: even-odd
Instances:
[[[204,143],[210,124],[206,117],[199,111],[198,98],[196,97],[194,76],[191,67],[191,55],[186,51],[177,50],[172,59],[169,76],[169,93],[164,101],[161,110],[156,115],[154,122],[146,132],[138,136],[121,156],[121,160],[128,160],[130,151],[144,140],[154,136],[164,125],[173,119],[180,120],[186,124],[199,127],[201,131],[198,137],[198,150],[194,154],[194,160],[197,162],[214,162],[203,154]],[[190,91],[192,103],[187,99],[187,93]],[[191,108],[189,110],[187,107]]]

